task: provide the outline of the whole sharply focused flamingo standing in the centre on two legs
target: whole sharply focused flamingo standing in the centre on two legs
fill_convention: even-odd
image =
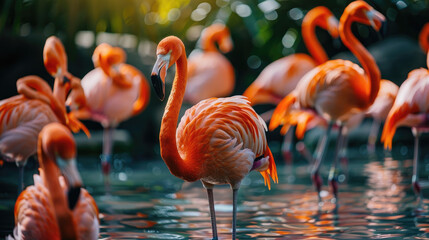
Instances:
[[[159,42],[156,53],[151,79],[161,100],[165,96],[166,71],[176,63],[176,76],[161,122],[161,157],[173,175],[189,182],[201,180],[207,189],[213,239],[217,239],[213,187],[231,186],[235,239],[241,180],[251,170],[257,170],[268,188],[270,176],[278,182],[265,137],[265,122],[243,96],[209,98],[188,109],[176,130],[187,80],[185,46],[179,38],[169,36]]]

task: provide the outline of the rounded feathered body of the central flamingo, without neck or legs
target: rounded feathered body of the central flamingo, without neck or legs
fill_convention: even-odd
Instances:
[[[178,151],[198,162],[201,179],[238,184],[262,156],[266,125],[243,96],[210,98],[188,109],[176,132]]]

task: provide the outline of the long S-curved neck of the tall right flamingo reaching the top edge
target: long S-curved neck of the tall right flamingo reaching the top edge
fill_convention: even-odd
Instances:
[[[353,20],[346,18],[343,24],[340,24],[340,37],[344,45],[356,56],[365,70],[370,82],[368,105],[372,104],[377,97],[380,89],[380,70],[377,63],[366,48],[356,39],[351,30]]]

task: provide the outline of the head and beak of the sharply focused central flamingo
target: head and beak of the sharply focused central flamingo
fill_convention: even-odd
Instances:
[[[182,55],[186,54],[183,42],[175,37],[169,36],[159,42],[156,55],[157,59],[152,69],[151,80],[159,99],[165,97],[165,77],[167,69],[171,67]]]

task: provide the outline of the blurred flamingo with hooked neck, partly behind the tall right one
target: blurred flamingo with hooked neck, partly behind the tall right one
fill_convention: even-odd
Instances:
[[[311,69],[315,68],[328,60],[328,57],[316,38],[316,26],[321,27],[329,34],[338,37],[338,20],[332,12],[319,6],[311,9],[302,21],[302,38],[310,52],[310,55],[297,53],[289,55],[269,64],[256,80],[244,91],[243,95],[248,97],[252,105],[273,104],[277,105],[286,95],[295,89],[298,81]],[[269,118],[263,114],[265,118]],[[284,159],[292,159],[291,142],[293,130],[285,134],[282,152]]]

